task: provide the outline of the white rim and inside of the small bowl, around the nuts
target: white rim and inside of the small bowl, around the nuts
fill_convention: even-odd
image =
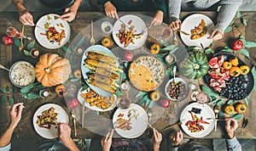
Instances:
[[[169,99],[171,99],[172,101],[182,101],[182,100],[183,100],[184,98],[186,98],[186,97],[188,96],[188,94],[189,94],[189,86],[188,86],[188,83],[187,83],[187,81],[185,81],[183,78],[175,77],[175,82],[177,82],[177,83],[183,82],[183,83],[185,84],[185,88],[184,88],[184,90],[183,90],[183,91],[185,91],[185,92],[184,92],[184,96],[181,97],[181,98],[172,98],[171,95],[170,95],[170,92],[168,91],[168,90],[169,90],[169,87],[171,87],[170,85],[171,85],[172,81],[173,81],[173,78],[172,78],[170,81],[168,81],[168,82],[166,83],[166,89],[165,89],[166,97],[169,98]],[[177,85],[177,83],[176,83],[175,85]]]

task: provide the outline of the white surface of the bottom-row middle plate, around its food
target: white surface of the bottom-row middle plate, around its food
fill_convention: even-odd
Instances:
[[[116,120],[118,120],[118,115],[119,114],[124,114],[123,119],[129,120],[128,118],[128,112],[130,109],[137,109],[139,112],[139,115],[136,120],[131,120],[131,130],[121,130],[119,128],[115,128],[115,131],[119,133],[121,137],[125,138],[136,138],[141,135],[143,135],[143,132],[147,129],[148,127],[148,114],[147,112],[139,105],[135,103],[131,103],[130,108],[128,109],[116,109],[116,111],[113,114],[113,125]],[[146,121],[147,120],[147,121]]]

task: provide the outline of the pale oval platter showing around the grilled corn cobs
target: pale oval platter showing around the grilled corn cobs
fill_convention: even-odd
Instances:
[[[90,46],[89,48],[87,48],[85,51],[84,51],[84,54],[83,54],[83,57],[82,57],[82,60],[81,60],[81,70],[82,70],[82,75],[84,76],[84,81],[87,83],[87,85],[92,88],[96,93],[104,96],[104,97],[108,97],[108,96],[111,96],[112,93],[111,92],[107,92],[105,90],[102,90],[101,88],[99,87],[95,87],[93,85],[91,85],[90,83],[88,83],[86,81],[86,79],[88,79],[88,76],[86,75],[88,72],[90,72],[90,70],[84,66],[84,59],[87,58],[86,56],[86,53],[88,51],[97,51],[97,52],[102,52],[102,53],[107,53],[107,54],[110,54],[110,55],[113,55],[114,54],[108,49],[108,48],[105,48],[103,47],[102,45],[93,45],[93,46]],[[118,62],[118,60],[117,60]],[[118,64],[119,65],[119,64]],[[121,80],[121,79],[120,79]]]

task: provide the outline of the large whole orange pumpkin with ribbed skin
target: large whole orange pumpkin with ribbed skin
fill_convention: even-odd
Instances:
[[[68,59],[62,59],[58,54],[43,54],[35,67],[37,80],[44,87],[52,87],[67,81],[71,74]]]

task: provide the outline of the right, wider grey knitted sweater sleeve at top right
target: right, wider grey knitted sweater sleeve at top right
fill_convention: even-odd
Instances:
[[[224,32],[226,27],[233,20],[237,9],[240,7],[242,0],[222,0],[217,18],[215,29]]]

